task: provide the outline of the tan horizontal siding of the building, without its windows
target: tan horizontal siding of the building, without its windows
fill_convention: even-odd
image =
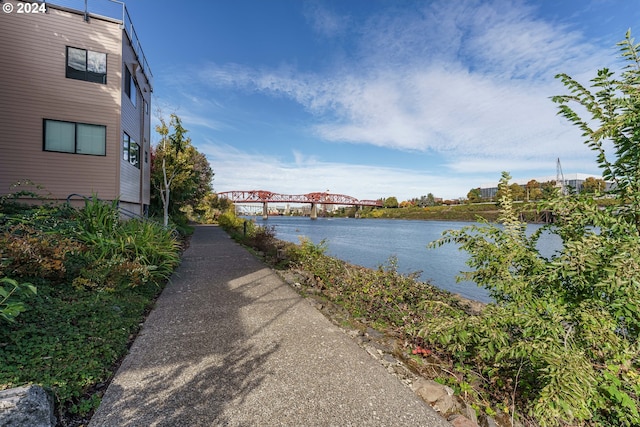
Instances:
[[[123,198],[126,183],[128,202],[148,203],[144,148],[140,170],[122,162],[123,128],[137,132],[136,142],[145,135],[139,112],[123,111],[123,51],[132,55],[126,33],[116,21],[85,22],[81,13],[47,8],[46,14],[0,14],[0,195],[31,180],[58,200],[71,193],[113,200]],[[106,53],[107,83],[66,78],[67,46]],[[106,155],[44,151],[44,119],[106,126]]]

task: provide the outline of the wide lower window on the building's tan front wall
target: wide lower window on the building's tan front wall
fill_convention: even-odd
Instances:
[[[107,127],[44,120],[44,151],[105,156]]]

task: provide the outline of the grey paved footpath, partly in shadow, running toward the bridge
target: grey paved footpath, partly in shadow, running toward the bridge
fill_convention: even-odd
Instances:
[[[196,228],[89,425],[451,427],[215,226]]]

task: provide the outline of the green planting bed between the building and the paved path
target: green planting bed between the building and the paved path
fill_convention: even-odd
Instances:
[[[179,263],[171,229],[83,209],[0,201],[0,390],[39,384],[62,425],[100,403]]]

